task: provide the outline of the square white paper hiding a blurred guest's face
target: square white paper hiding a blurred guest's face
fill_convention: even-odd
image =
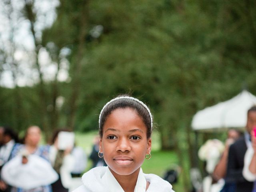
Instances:
[[[58,134],[58,149],[65,150],[67,148],[73,148],[75,141],[74,132],[61,131]]]

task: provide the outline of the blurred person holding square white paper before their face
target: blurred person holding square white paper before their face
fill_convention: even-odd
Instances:
[[[54,170],[59,175],[59,179],[52,184],[53,192],[69,192],[80,186],[82,184],[81,179],[72,178],[72,172],[74,177],[80,177],[87,162],[82,148],[74,147],[74,138],[68,136],[66,140],[63,140],[62,133],[67,136],[74,136],[74,133],[68,129],[57,130],[53,135],[49,149],[50,160]],[[61,146],[63,142],[68,143],[65,148]]]

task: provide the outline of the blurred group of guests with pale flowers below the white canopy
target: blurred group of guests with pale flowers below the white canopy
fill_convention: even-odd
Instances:
[[[246,130],[230,129],[223,144],[207,140],[198,156],[206,176],[196,192],[256,192],[256,106],[247,112]]]

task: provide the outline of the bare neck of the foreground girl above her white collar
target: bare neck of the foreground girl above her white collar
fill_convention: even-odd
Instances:
[[[125,192],[134,192],[140,168],[130,175],[118,175],[111,169],[110,171]]]

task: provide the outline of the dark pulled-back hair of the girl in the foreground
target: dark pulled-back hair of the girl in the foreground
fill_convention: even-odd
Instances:
[[[129,95],[120,95],[118,97],[121,96],[128,96]],[[117,98],[118,98],[117,97]],[[117,99],[114,100],[113,102],[110,102],[110,104],[108,104],[104,110],[102,111],[102,114],[100,116],[100,121],[99,121],[99,134],[100,137],[102,138],[103,136],[103,126],[108,118],[108,116],[116,109],[118,108],[131,108],[133,110],[135,110],[137,112],[137,114],[142,118],[144,124],[146,125],[147,128],[147,138],[151,137],[151,118],[150,118],[150,114],[148,113],[148,110],[139,102],[137,102],[136,100],[132,100],[130,98],[121,98],[121,99]]]

